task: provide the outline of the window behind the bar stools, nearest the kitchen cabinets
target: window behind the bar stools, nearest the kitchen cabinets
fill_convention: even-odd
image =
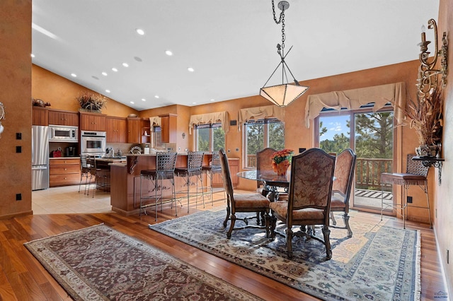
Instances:
[[[225,132],[222,124],[202,124],[195,126],[197,151],[219,151],[225,148]]]

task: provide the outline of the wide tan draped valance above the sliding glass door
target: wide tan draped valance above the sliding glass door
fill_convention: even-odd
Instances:
[[[369,102],[374,102],[373,112],[384,107],[387,102],[391,102],[394,105],[394,116],[400,124],[403,121],[404,113],[399,108],[406,107],[406,84],[403,82],[390,83],[309,95],[305,106],[305,126],[309,128],[310,120],[316,118],[324,107],[334,110],[341,110],[342,107],[355,110]]]

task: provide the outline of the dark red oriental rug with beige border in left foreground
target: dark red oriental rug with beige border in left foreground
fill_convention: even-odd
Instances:
[[[106,225],[25,247],[74,300],[260,300]]]

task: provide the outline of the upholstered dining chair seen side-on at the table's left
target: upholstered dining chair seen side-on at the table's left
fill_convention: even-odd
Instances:
[[[226,190],[226,218],[224,220],[224,227],[226,228],[226,224],[228,220],[231,220],[231,224],[229,227],[228,232],[226,233],[227,238],[231,238],[231,232],[233,230],[237,230],[234,228],[234,224],[236,223],[236,213],[239,212],[255,212],[261,213],[264,212],[264,221],[265,221],[265,230],[266,230],[266,237],[269,237],[270,234],[270,216],[269,216],[269,204],[270,201],[263,195],[258,193],[251,193],[251,194],[236,194],[233,190],[233,184],[231,182],[231,173],[229,171],[229,163],[228,158],[226,157],[226,153],[223,148],[219,151],[220,157],[220,165],[222,166],[222,177],[224,179],[224,185]],[[257,214],[257,216],[258,216]],[[231,216],[230,216],[231,215]],[[248,225],[246,222],[247,227],[260,227],[258,225]],[[262,227],[260,227],[262,228]]]

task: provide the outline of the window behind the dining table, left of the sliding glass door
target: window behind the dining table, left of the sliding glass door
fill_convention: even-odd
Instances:
[[[285,148],[285,125],[278,119],[251,120],[243,128],[245,167],[256,167],[256,152],[263,148]]]

